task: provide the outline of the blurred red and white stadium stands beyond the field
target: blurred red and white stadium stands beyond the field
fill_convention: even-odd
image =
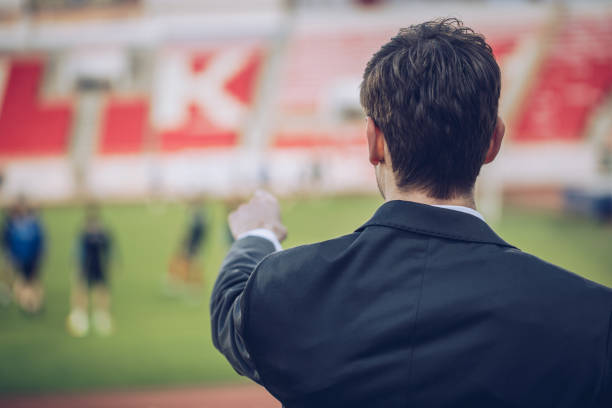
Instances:
[[[202,2],[183,2],[182,9],[174,2],[145,3],[117,20],[98,19],[97,11],[87,14],[89,8],[75,6],[66,18],[51,22],[42,18],[50,12],[41,9],[31,30],[23,32],[29,37],[0,22],[3,192],[15,185],[11,191],[18,194],[40,171],[42,157],[61,167],[56,172],[65,186],[100,196],[221,191],[213,185],[218,178],[190,184],[200,183],[194,177],[199,165],[202,174],[215,168],[227,173],[227,183],[244,187],[242,178],[257,173],[264,158],[280,163],[270,166],[286,176],[287,191],[299,186],[310,168],[320,167],[329,177],[327,172],[335,174],[329,158],[319,166],[320,156],[341,157],[340,164],[349,156],[355,163],[363,157],[357,96],[365,63],[401,25],[447,10],[444,5],[422,11],[397,2],[371,13],[351,6],[330,14],[321,3],[320,9],[305,7],[295,15],[279,9],[276,17],[261,21],[228,12],[233,23],[208,26],[201,21],[212,24],[214,17]],[[191,7],[202,13],[193,14]],[[602,127],[592,124],[608,115],[604,108],[612,103],[609,7],[496,5],[495,18],[480,5],[465,7],[466,25],[485,34],[504,75],[500,106],[509,137],[498,168],[488,168],[493,190],[579,186],[595,179],[600,160],[595,152],[601,149],[589,129]],[[162,26],[167,30],[160,31]],[[228,27],[236,30],[230,35]],[[83,86],[96,80],[104,86]],[[58,94],[73,99],[58,100],[53,96]],[[245,150],[249,154],[243,156]],[[222,154],[242,167],[219,170],[213,159]],[[6,167],[9,162],[13,167]],[[30,162],[36,162],[32,171]],[[307,170],[292,173],[295,166]],[[141,174],[130,181],[138,178],[138,188],[117,182],[126,171]]]

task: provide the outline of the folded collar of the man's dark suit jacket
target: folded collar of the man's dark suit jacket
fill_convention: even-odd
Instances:
[[[385,226],[418,234],[515,248],[478,217],[412,201],[394,200],[384,203],[357,232],[369,226]]]

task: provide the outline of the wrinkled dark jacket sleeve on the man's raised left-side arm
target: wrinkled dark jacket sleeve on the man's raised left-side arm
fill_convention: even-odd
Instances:
[[[243,297],[247,281],[259,262],[274,252],[265,238],[249,236],[234,242],[225,257],[210,299],[212,340],[241,375],[261,383],[243,336]]]

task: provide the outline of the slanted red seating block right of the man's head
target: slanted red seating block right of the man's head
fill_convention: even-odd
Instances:
[[[517,142],[578,141],[612,89],[612,16],[570,17],[550,46],[518,121]]]

